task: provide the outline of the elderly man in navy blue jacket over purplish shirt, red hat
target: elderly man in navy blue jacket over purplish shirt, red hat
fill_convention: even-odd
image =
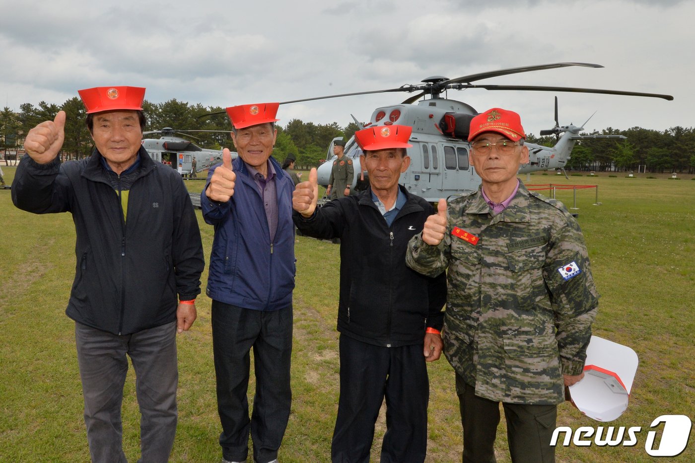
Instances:
[[[290,415],[294,182],[270,156],[278,105],[227,108],[239,156],[232,162],[224,149],[201,194],[205,221],[215,226],[207,295],[223,462],[246,460],[249,432],[254,462],[275,462]],[[249,418],[251,349],[256,394]]]

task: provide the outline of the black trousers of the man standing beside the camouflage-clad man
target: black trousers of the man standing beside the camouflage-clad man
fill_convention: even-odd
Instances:
[[[386,397],[381,462],[423,462],[430,400],[423,344],[386,348],[341,334],[340,359],[341,395],[332,461],[369,462],[374,425]]]

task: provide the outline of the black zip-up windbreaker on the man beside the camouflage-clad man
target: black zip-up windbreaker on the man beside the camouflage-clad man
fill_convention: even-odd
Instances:
[[[391,227],[371,188],[333,200],[312,218],[295,212],[297,229],[315,238],[341,238],[338,331],[376,346],[422,343],[425,327],[441,330],[446,277],[430,278],[405,265],[408,241],[423,231],[434,208],[404,188],[407,201]]]

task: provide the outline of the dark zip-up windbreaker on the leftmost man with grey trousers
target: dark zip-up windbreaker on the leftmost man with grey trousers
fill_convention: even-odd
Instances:
[[[33,213],[70,212],[76,269],[65,313],[79,323],[131,334],[176,320],[200,293],[204,268],[197,218],[181,176],[140,147],[140,165],[118,176],[101,154],[48,164],[24,156],[12,199]],[[129,190],[124,220],[122,190]]]

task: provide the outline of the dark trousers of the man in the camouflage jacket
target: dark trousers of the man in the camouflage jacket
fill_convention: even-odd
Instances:
[[[456,375],[456,392],[464,427],[465,463],[489,463],[495,460],[495,438],[500,423],[500,403],[475,395],[475,387]],[[502,403],[507,419],[509,454],[514,463],[555,462],[555,447],[550,439],[555,431],[557,405]]]

